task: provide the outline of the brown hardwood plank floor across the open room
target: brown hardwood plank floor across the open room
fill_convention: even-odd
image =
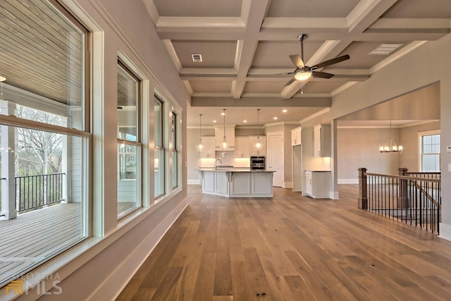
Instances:
[[[190,206],[117,300],[450,300],[451,242],[340,200],[275,188]]]

